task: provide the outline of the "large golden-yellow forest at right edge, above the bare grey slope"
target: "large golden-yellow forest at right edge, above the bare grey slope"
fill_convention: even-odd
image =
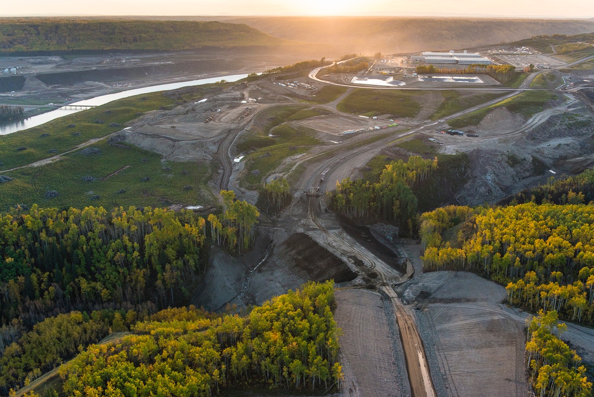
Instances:
[[[481,272],[507,286],[510,303],[593,323],[594,205],[584,204],[582,191],[590,194],[592,173],[536,188],[546,192],[542,204],[424,213],[425,269]]]

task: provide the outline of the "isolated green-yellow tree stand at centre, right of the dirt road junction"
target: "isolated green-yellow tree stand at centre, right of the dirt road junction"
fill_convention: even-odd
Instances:
[[[412,191],[437,169],[437,158],[425,160],[410,156],[408,162],[394,160],[386,165],[378,182],[350,178],[336,182],[330,195],[330,206],[350,218],[374,218],[399,225],[402,234],[416,228],[418,200]]]

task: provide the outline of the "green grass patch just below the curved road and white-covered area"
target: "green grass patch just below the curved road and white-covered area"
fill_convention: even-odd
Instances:
[[[415,117],[421,111],[421,92],[356,89],[337,106],[342,112],[364,116]]]

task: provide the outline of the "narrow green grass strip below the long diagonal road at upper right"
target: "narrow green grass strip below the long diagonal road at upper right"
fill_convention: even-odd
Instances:
[[[485,116],[495,108],[505,106],[508,111],[529,118],[542,111],[547,102],[557,99],[557,94],[548,91],[527,91],[488,108],[481,109],[465,116],[448,121],[453,128],[478,125]]]

